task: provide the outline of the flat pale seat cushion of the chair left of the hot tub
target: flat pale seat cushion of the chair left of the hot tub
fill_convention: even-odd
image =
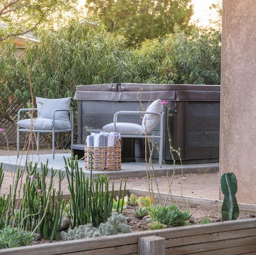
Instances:
[[[17,122],[21,128],[30,129],[31,125],[34,130],[52,130],[53,124],[51,119],[35,118],[35,119],[23,119]],[[67,121],[54,120],[55,129],[68,129],[70,123]]]

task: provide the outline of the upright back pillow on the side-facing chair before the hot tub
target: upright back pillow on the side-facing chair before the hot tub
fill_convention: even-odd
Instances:
[[[161,99],[157,99],[156,101],[152,102],[146,111],[161,113],[163,111],[163,104]],[[157,114],[145,114],[142,119],[142,127],[147,131],[147,133],[149,133],[157,126],[159,120],[160,116]]]

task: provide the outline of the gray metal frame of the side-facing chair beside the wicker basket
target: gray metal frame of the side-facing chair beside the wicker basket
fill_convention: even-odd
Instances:
[[[123,116],[141,116],[143,114],[156,114],[160,117],[160,133],[157,135],[122,135],[123,138],[158,138],[159,139],[159,167],[162,168],[163,159],[163,134],[164,134],[164,112],[146,112],[146,111],[119,111],[114,115],[114,132],[116,132],[117,117]]]

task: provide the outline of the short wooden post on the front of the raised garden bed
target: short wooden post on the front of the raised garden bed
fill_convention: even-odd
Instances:
[[[138,255],[165,255],[165,238],[155,235],[139,237]]]

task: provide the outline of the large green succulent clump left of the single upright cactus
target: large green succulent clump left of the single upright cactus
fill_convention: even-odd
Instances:
[[[162,224],[169,226],[184,226],[191,218],[189,211],[181,211],[177,204],[168,206],[154,205],[148,209],[151,221],[159,221]]]

